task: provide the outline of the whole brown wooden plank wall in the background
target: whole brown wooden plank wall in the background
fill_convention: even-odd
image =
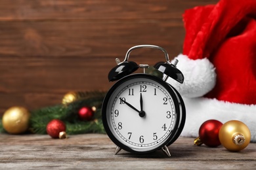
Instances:
[[[0,0],[0,113],[61,103],[69,91],[108,90],[108,71],[131,46],[182,52],[182,13],[217,0]],[[161,51],[130,60],[154,65]],[[0,114],[0,115],[1,115]]]

